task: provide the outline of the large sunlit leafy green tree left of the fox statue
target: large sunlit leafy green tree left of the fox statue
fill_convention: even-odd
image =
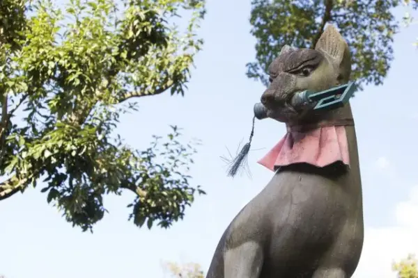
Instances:
[[[130,219],[150,228],[204,193],[187,175],[196,145],[176,126],[141,151],[114,134],[132,99],[184,95],[204,0],[118,3],[0,1],[0,199],[45,179],[47,202],[83,231],[103,218],[105,194],[134,193]],[[183,33],[181,13],[191,14]]]

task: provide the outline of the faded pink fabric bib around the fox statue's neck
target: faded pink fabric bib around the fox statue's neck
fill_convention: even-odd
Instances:
[[[289,131],[258,163],[274,171],[294,163],[324,167],[336,161],[350,165],[345,126]]]

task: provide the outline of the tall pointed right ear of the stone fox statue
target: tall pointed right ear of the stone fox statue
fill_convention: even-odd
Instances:
[[[315,50],[328,56],[336,69],[339,69],[339,75],[344,81],[350,79],[351,56],[350,49],[346,40],[343,39],[339,31],[332,24],[325,27],[325,31],[316,43]]]

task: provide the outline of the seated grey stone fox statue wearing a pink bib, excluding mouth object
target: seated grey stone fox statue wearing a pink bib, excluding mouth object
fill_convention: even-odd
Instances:
[[[314,113],[289,101],[295,92],[347,83],[348,45],[328,25],[315,49],[285,46],[268,70],[261,102],[288,133],[259,161],[274,176],[229,224],[206,277],[351,277],[364,224],[350,104]]]

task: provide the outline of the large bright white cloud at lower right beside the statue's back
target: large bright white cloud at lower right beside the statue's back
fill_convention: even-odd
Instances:
[[[418,186],[408,200],[396,205],[394,214],[393,227],[366,227],[362,258],[353,278],[396,278],[393,261],[409,253],[418,255]]]

